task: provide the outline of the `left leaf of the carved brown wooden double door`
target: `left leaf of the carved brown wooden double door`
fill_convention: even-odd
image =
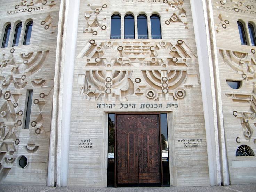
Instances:
[[[138,116],[118,115],[117,121],[117,183],[139,183]]]

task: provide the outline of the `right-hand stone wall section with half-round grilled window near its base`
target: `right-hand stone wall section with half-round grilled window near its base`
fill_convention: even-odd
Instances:
[[[212,5],[224,117],[225,138],[222,139],[227,146],[230,182],[253,183],[256,177],[256,47],[251,46],[247,23],[255,27],[256,1],[213,0]],[[241,45],[237,21],[245,27],[248,45]],[[238,90],[232,89],[226,80],[240,81],[241,86]],[[236,157],[240,145],[249,146],[254,155]]]

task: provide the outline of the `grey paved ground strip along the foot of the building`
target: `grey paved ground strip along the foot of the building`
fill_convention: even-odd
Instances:
[[[45,186],[0,185],[0,192],[256,192],[256,184],[221,187],[142,187],[142,188],[52,188]]]

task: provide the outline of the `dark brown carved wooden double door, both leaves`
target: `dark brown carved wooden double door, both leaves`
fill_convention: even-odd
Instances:
[[[117,115],[117,184],[161,183],[159,115]]]

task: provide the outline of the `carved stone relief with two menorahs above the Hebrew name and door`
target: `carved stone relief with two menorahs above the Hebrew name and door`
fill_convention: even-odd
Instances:
[[[77,58],[86,59],[83,92],[91,101],[179,100],[186,96],[186,89],[198,84],[197,75],[189,74],[187,65],[196,56],[182,40],[90,40]]]

